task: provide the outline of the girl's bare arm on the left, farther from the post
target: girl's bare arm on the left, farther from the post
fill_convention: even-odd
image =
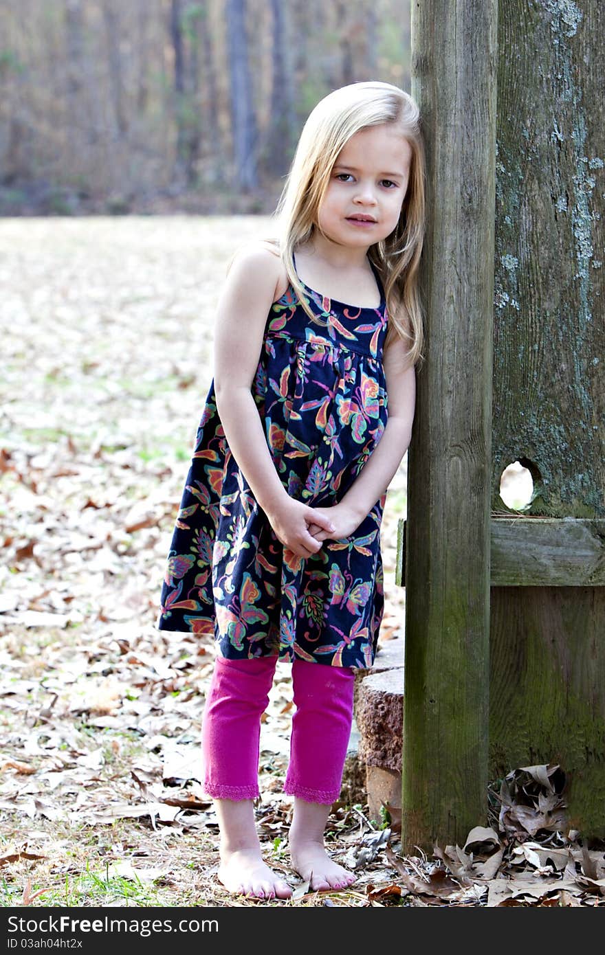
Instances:
[[[227,444],[254,498],[277,538],[299,557],[308,557],[321,547],[309,533],[308,522],[321,523],[326,530],[334,525],[329,517],[289,496],[275,470],[251,393],[280,272],[280,259],[260,244],[248,245],[234,258],[217,309],[214,390]]]

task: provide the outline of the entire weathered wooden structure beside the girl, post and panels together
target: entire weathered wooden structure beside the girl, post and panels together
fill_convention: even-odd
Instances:
[[[570,827],[605,837],[599,12],[412,5],[429,215],[402,556],[406,851],[461,844],[487,775],[532,763],[560,764]],[[499,494],[515,460],[534,482],[521,514]]]

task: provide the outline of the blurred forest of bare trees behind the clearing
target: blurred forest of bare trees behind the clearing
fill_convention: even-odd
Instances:
[[[0,214],[272,212],[331,90],[409,90],[409,0],[2,0]]]

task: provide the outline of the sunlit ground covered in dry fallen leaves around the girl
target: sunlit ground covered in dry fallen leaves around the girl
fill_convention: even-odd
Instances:
[[[163,561],[211,380],[215,304],[255,217],[5,220],[0,226],[0,902],[252,905],[216,879],[199,783],[213,647],[155,628]],[[382,526],[381,641],[402,638],[395,584],[405,461]],[[292,709],[279,665],[261,735],[259,835],[292,882],[265,905],[597,905],[605,854],[565,824],[557,767],[490,791],[488,827],[432,857],[400,820],[335,804],[347,891],[292,877],[284,796]]]

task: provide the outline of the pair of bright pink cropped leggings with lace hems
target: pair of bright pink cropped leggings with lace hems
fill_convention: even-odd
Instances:
[[[255,799],[261,715],[276,656],[218,656],[202,721],[203,787],[217,799]],[[340,794],[353,719],[354,670],[294,660],[290,763],[284,792],[331,804]]]

